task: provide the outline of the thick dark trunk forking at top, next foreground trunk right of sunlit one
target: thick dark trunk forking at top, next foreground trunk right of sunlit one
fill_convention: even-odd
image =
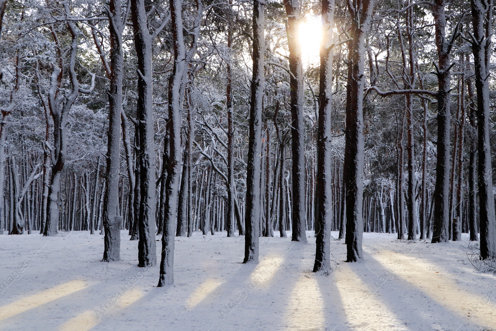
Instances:
[[[365,40],[372,20],[373,0],[348,2],[352,16],[350,41],[349,83],[347,86],[344,182],[346,185],[346,247],[347,262],[362,260],[363,176],[364,176],[364,118]]]

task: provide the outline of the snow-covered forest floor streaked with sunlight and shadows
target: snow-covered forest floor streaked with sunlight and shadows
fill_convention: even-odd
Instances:
[[[430,244],[365,233],[363,263],[344,263],[333,240],[326,275],[310,272],[313,232],[307,245],[260,238],[258,265],[240,264],[244,237],[197,232],[176,239],[175,284],[162,288],[126,231],[112,263],[100,261],[101,235],[67,234],[0,236],[0,330],[496,330],[496,275],[468,263],[465,234]]]

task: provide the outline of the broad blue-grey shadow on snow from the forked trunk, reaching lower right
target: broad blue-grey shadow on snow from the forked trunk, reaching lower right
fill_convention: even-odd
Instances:
[[[374,299],[385,304],[406,326],[411,326],[412,330],[475,330],[473,325],[465,326],[470,320],[435,303],[428,293],[400,276],[389,279],[394,272],[385,268],[370,254],[364,254],[364,257],[363,263],[350,264],[350,268],[370,287]]]

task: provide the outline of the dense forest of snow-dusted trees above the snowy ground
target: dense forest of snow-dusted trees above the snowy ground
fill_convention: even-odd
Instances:
[[[128,230],[159,286],[197,231],[244,236],[245,263],[315,231],[313,271],[331,231],[348,262],[363,232],[496,258],[492,0],[0,10],[0,233],[99,233],[117,261]]]

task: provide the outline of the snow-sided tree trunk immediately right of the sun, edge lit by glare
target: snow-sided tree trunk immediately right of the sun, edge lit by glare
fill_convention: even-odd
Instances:
[[[315,263],[313,272],[330,268],[332,217],[332,28],[334,0],[322,0],[322,44],[320,45],[320,81],[317,136],[317,213],[315,214]]]

